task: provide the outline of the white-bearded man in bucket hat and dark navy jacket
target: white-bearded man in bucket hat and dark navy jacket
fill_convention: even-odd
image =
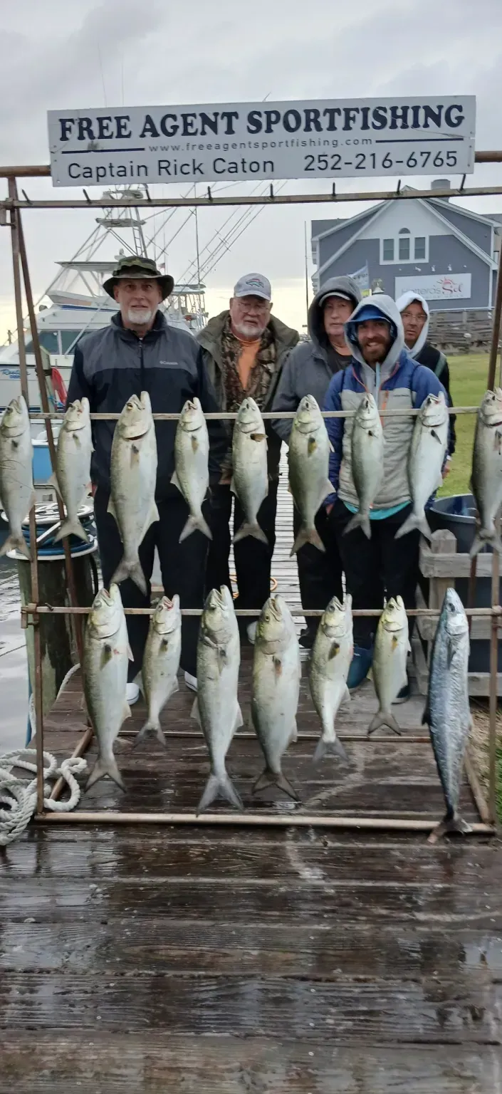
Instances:
[[[187,399],[198,398],[205,412],[218,410],[213,389],[195,338],[170,326],[160,305],[173,291],[171,275],[161,274],[151,258],[125,255],[103,288],[118,304],[112,322],[85,335],[75,348],[68,403],[89,399],[92,414],[120,414],[131,395],[148,392],[153,414],[179,414]],[[122,544],[114,516],[108,513],[110,455],[115,421],[93,422],[94,453],[91,477],[103,582],[107,586],[121,558]],[[218,482],[226,450],[219,421],[208,421],[210,481]],[[179,544],[188,507],[171,482],[174,472],[176,421],[156,421],[157,476],[155,500],[159,521],[150,526],[139,549],[148,595],[127,579],[120,584],[125,607],[150,606],[150,581],[155,547],[159,551],[164,592],[178,593],[182,608],[202,606],[206,557],[209,540],[196,531]],[[133,683],[141,670],[149,627],[148,616],[127,616],[129,644],[128,701],[139,689]],[[196,688],[196,648],[199,620],[184,616],[182,667],[189,687]]]

